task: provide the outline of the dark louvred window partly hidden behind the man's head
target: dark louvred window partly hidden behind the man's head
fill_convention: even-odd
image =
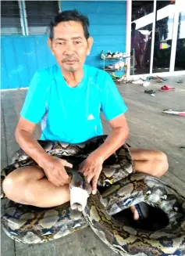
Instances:
[[[52,18],[59,13],[58,1],[25,1],[28,34],[47,34]]]

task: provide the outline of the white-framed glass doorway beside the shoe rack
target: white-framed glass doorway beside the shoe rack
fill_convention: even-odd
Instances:
[[[130,75],[185,74],[185,5],[181,0],[127,1]]]

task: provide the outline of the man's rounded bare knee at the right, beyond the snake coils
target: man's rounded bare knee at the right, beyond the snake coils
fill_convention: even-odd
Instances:
[[[154,158],[155,173],[157,177],[161,177],[169,169],[168,157],[165,153],[158,151]]]

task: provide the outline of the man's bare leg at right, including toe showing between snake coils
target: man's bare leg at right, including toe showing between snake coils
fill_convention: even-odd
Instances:
[[[165,153],[154,150],[139,150],[130,148],[130,153],[134,159],[134,169],[136,172],[160,177],[169,168],[168,158]],[[130,207],[133,218],[138,219],[139,214],[136,207]]]

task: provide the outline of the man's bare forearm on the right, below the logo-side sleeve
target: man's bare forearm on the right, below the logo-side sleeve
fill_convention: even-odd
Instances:
[[[91,153],[91,157],[102,157],[106,160],[108,157],[115,153],[120,146],[126,141],[129,135],[128,128],[114,128],[109,134],[105,142]]]

